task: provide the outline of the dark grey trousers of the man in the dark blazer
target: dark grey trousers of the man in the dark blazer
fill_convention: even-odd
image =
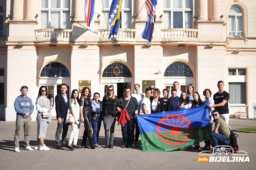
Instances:
[[[60,134],[62,131],[62,145],[66,145],[67,133],[68,133],[68,124],[65,124],[66,119],[61,118],[61,124],[58,124],[56,134],[55,134],[55,144],[60,145]]]

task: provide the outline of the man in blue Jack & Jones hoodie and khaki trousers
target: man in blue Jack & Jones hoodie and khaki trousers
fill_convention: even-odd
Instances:
[[[19,149],[19,141],[20,141],[20,132],[21,129],[24,129],[24,139],[26,143],[26,150],[33,151],[29,145],[30,140],[30,126],[31,126],[31,114],[34,110],[34,105],[32,100],[27,96],[28,87],[22,86],[21,88],[21,95],[15,99],[14,108],[16,111],[16,129],[14,135],[14,151],[20,152]]]

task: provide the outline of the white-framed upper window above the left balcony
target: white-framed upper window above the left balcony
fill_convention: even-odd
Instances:
[[[41,28],[69,29],[70,0],[41,0]]]

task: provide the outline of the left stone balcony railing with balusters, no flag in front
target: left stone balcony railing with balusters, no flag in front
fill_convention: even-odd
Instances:
[[[35,30],[36,41],[69,41],[72,30],[70,29],[40,29]]]

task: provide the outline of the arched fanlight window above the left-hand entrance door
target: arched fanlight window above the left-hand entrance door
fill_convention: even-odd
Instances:
[[[40,77],[69,77],[69,71],[66,66],[59,62],[46,64],[40,73]]]

